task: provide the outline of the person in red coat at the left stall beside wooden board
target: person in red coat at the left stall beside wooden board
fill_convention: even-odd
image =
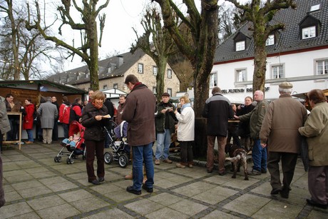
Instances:
[[[25,111],[26,115],[24,116],[23,119],[23,129],[26,130],[27,136],[28,136],[28,141],[25,143],[33,143],[34,142],[34,137],[33,137],[33,114],[35,111],[35,106],[33,103],[31,103],[31,99],[28,98],[25,100]]]

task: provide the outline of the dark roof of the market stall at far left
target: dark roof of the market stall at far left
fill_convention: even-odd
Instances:
[[[88,91],[75,88],[71,85],[55,83],[46,80],[29,80],[29,81],[0,81],[0,88],[21,88],[33,91],[48,91],[63,94],[84,94]]]

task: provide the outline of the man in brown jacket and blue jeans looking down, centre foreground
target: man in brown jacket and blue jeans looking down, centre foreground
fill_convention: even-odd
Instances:
[[[122,119],[128,122],[128,144],[133,153],[133,185],[126,190],[141,194],[141,185],[148,193],[153,193],[154,166],[153,142],[155,141],[155,106],[153,92],[132,74],[125,78],[130,93],[126,97]],[[143,162],[147,180],[143,185]]]

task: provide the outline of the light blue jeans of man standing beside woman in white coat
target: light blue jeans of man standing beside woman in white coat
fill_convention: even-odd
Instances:
[[[170,129],[165,129],[164,133],[157,133],[157,146],[156,146],[156,153],[155,153],[156,160],[159,160],[162,157],[163,160],[168,158],[170,143],[171,143]]]

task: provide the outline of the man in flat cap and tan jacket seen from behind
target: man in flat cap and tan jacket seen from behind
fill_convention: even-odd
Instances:
[[[301,145],[298,128],[307,120],[307,109],[292,98],[292,83],[279,85],[280,96],[269,104],[263,119],[260,139],[261,146],[267,147],[269,157],[267,169],[270,172],[271,195],[280,193],[282,198],[289,197],[290,183]],[[282,161],[282,182],[280,181],[279,162]]]

